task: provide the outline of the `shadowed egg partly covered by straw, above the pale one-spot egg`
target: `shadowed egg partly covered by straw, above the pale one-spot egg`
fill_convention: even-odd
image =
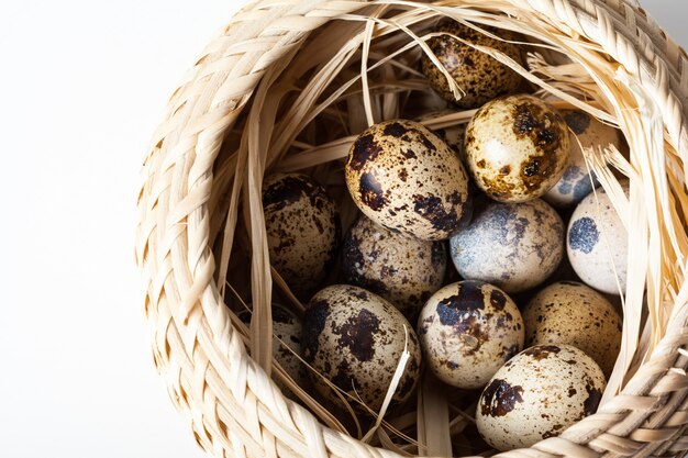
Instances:
[[[561,110],[562,116],[577,138],[570,138],[569,159],[562,179],[554,185],[543,199],[553,206],[567,208],[577,204],[599,186],[595,174],[588,174],[588,166],[581,146],[604,148],[614,145],[620,148],[619,130],[602,124],[581,110]]]

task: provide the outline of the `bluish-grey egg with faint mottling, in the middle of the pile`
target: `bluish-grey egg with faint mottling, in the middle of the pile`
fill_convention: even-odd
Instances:
[[[564,223],[541,199],[490,202],[452,236],[450,246],[463,278],[521,292],[556,270],[564,256]]]

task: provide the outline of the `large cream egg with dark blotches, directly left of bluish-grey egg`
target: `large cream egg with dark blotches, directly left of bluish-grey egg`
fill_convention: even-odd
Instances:
[[[360,211],[421,241],[448,238],[463,224],[468,177],[454,152],[414,121],[385,121],[348,152],[348,191]]]

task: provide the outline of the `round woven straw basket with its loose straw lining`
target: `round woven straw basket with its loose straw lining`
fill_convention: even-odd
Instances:
[[[398,115],[409,91],[428,91],[393,52],[420,56],[417,34],[442,14],[550,45],[529,58],[531,81],[586,100],[631,152],[628,163],[604,152],[589,160],[611,194],[619,170],[631,178],[630,198],[617,192],[614,201],[631,262],[611,388],[596,414],[561,436],[499,456],[684,456],[688,56],[631,0],[251,1],[174,92],[145,158],[136,257],[155,364],[174,403],[218,457],[452,455],[446,402],[435,405],[443,417],[423,415],[442,390],[421,387],[407,425],[413,440],[403,445],[382,434],[354,438],[362,435],[308,393],[285,396],[273,382],[289,386],[270,357],[266,304],[281,294],[302,305],[270,270],[260,202],[263,177],[275,170],[307,169],[336,188],[352,135]],[[348,111],[336,114],[335,103]],[[329,129],[335,114],[353,127]],[[252,326],[228,308],[232,297],[253,302]]]

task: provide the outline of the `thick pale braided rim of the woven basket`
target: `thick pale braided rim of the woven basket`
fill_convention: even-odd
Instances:
[[[629,22],[629,7],[623,2],[609,3],[623,9],[623,23],[614,22],[608,8],[599,8],[601,3],[590,1],[514,3],[524,10],[553,13],[554,21],[579,25],[579,33],[599,38],[604,51],[615,52],[612,55],[619,62],[630,69],[635,68],[639,80],[659,100],[665,118],[674,122],[674,127],[667,125],[673,141],[680,150],[686,150],[686,127],[678,103],[685,100],[686,92],[685,53],[676,52],[672,42],[657,40],[656,36],[663,34],[657,33],[651,22]],[[167,121],[156,132],[155,146],[146,158],[136,253],[148,280],[146,313],[154,358],[176,405],[192,417],[197,439],[217,456],[395,456],[323,428],[302,407],[286,401],[265,372],[246,356],[212,281],[215,266],[208,247],[209,215],[203,205],[210,194],[211,167],[222,136],[233,126],[266,69],[293,49],[308,32],[359,5],[351,1],[263,1],[244,9],[209,45],[187,80],[175,91]],[[637,14],[636,10],[632,11]],[[636,27],[624,30],[629,23]],[[645,40],[645,53],[654,51],[654,56],[661,53],[674,56],[676,62],[669,64],[675,70],[664,68],[663,71],[664,62],[657,64],[650,58],[641,58],[641,64],[633,67],[634,60],[628,53],[633,48],[629,44],[635,43],[634,36],[650,37],[641,38]],[[621,51],[619,43],[623,45]],[[680,321],[683,326],[684,315],[679,313],[675,323]],[[665,340],[675,348],[686,344],[686,335],[669,336]],[[652,359],[632,382],[646,373],[653,377],[666,373],[674,362],[670,358]],[[675,378],[664,377],[670,378],[664,383],[665,393],[681,391],[685,396],[684,383],[678,383],[680,388],[675,390]],[[658,380],[657,384],[665,379]],[[651,395],[652,387],[639,391],[614,400],[613,405],[621,413],[609,414],[602,410],[575,425],[563,437],[502,456],[592,457],[602,450],[629,456],[640,451],[643,447],[636,446],[640,443],[664,443],[664,451],[672,454],[685,450],[688,440],[683,436],[684,429],[668,447],[670,435],[662,433],[665,429],[651,433],[661,425],[636,428],[634,431],[641,432],[633,438],[609,433],[614,425],[632,416],[624,416],[624,412],[639,412],[635,407],[643,405],[639,400]],[[662,404],[662,396],[656,399]],[[669,404],[664,402],[664,405]],[[685,413],[685,407],[683,404],[676,412],[665,409],[668,427],[675,423],[684,427],[686,416],[679,412]],[[640,417],[645,420],[656,410],[654,404],[641,409]]]

